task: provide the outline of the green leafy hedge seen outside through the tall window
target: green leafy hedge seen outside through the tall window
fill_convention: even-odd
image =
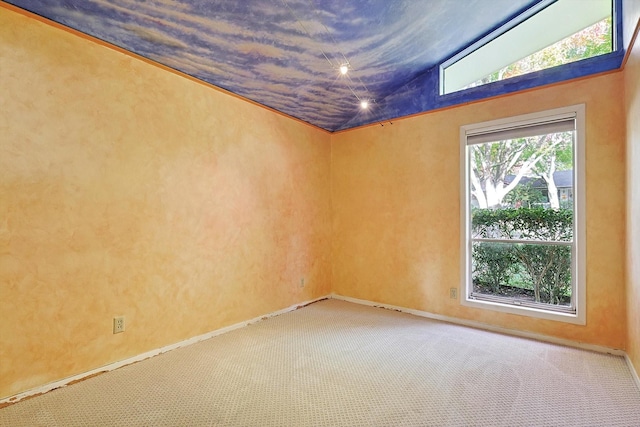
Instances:
[[[571,241],[570,209],[475,209],[473,237]],[[475,242],[474,289],[491,294],[505,287],[533,291],[537,302],[568,304],[571,301],[571,248],[564,245]]]

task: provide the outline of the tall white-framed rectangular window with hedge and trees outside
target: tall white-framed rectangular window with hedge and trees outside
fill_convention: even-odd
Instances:
[[[584,115],[461,128],[464,305],[585,323]]]

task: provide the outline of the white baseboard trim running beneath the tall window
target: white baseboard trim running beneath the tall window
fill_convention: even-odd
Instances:
[[[384,304],[384,303],[363,300],[358,298],[351,298],[351,297],[346,297],[338,294],[331,294],[331,298],[352,302],[355,304],[368,305],[370,307],[379,307],[379,308],[386,308],[389,310],[400,311],[403,313],[413,314],[420,317],[426,317],[428,319],[440,320],[442,322],[447,322],[447,323],[453,323],[455,325],[468,326],[470,328],[482,329],[485,331],[497,332],[505,335],[517,336],[520,338],[528,338],[536,341],[543,341],[551,344],[563,345],[565,347],[574,347],[582,350],[595,351],[598,353],[607,353],[615,356],[624,356],[628,360],[628,356],[624,352],[624,350],[619,350],[615,348],[610,348],[610,347],[605,347],[605,346],[600,346],[595,344],[581,343],[581,342],[571,341],[563,338],[552,337],[550,335],[537,334],[534,332],[525,332],[525,331],[519,331],[516,329],[503,328],[500,326],[494,326],[486,323],[475,322],[473,320],[458,319],[456,317],[443,316],[441,314],[434,314],[428,311],[416,310],[413,308],[401,307],[401,306],[396,306],[391,304]],[[628,360],[628,363],[630,363],[629,360]]]

